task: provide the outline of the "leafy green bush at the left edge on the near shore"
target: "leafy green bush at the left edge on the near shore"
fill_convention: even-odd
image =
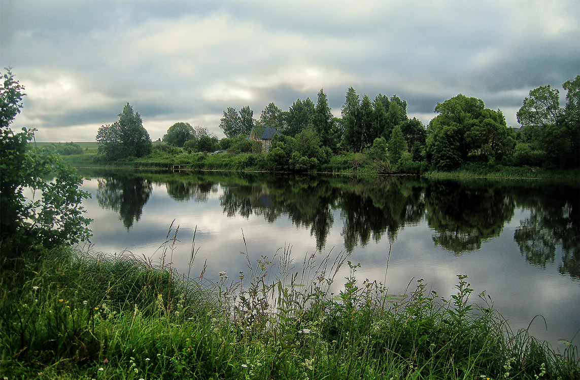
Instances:
[[[5,70],[0,89],[0,237],[14,237],[23,246],[88,240],[90,219],[80,203],[90,195],[79,190],[82,179],[57,154],[30,146],[34,129],[10,129],[22,107],[24,87],[10,68]],[[50,176],[55,179],[46,182]]]

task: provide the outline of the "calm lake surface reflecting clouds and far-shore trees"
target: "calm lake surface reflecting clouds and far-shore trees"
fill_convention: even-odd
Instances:
[[[237,279],[253,262],[291,249],[305,255],[350,253],[357,278],[402,294],[425,279],[454,293],[467,275],[487,291],[513,330],[561,347],[580,328],[580,185],[541,180],[427,180],[223,173],[81,171],[92,199],[92,249],[129,250],[160,260],[169,226],[179,225],[172,265],[192,276],[227,271]],[[245,243],[244,243],[245,237]],[[389,255],[390,250],[390,255]],[[169,261],[169,258],[166,258]],[[348,268],[336,276],[336,287]],[[273,276],[274,277],[274,276]],[[580,334],[578,334],[580,335]],[[578,344],[580,336],[574,339]]]

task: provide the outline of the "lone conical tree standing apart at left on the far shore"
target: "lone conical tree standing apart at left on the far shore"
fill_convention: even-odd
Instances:
[[[143,128],[139,112],[133,113],[129,103],[123,107],[118,122],[99,128],[96,140],[99,154],[107,160],[143,157],[151,153],[151,138]]]

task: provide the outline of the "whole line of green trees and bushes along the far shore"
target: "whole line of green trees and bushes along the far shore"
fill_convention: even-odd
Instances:
[[[425,126],[407,115],[407,101],[396,94],[362,98],[350,87],[335,118],[324,89],[314,103],[298,98],[282,111],[269,103],[253,118],[247,105],[237,111],[227,107],[220,119],[226,138],[218,138],[204,127],[175,123],[163,141],[191,152],[222,149],[233,153],[260,152],[260,145],[247,140],[254,127],[273,127],[275,137],[267,154],[274,170],[316,170],[332,155],[350,152],[353,160],[372,160],[386,171],[408,171],[416,167],[452,170],[464,163],[507,166],[580,166],[580,76],[563,85],[566,103],[560,107],[559,93],[550,86],[531,90],[517,112],[522,125],[506,125],[501,110],[486,108],[483,100],[458,94],[434,108],[436,116]],[[108,159],[140,157],[151,151],[151,142],[138,113],[126,104],[119,121],[103,126],[97,134],[99,152]],[[119,147],[124,148],[119,148]],[[359,156],[356,156],[359,154]],[[379,166],[380,166],[379,165]]]

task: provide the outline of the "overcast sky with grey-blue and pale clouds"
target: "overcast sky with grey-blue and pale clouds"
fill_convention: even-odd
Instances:
[[[26,87],[13,129],[95,141],[128,102],[151,140],[219,138],[227,107],[397,94],[425,125],[457,94],[501,109],[580,74],[580,1],[0,1],[0,72]]]

